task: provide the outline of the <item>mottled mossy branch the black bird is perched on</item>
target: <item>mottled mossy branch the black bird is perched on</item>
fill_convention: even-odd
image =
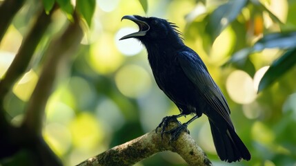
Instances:
[[[179,125],[178,122],[170,122],[168,130]],[[155,130],[143,136],[130,140],[122,145],[113,147],[103,153],[88,158],[77,166],[89,165],[133,165],[144,158],[148,158],[160,151],[174,151],[179,154],[188,165],[212,165],[206,154],[196,144],[195,140],[186,132],[180,134],[175,141],[168,143],[170,136],[164,134],[161,138],[160,132]]]

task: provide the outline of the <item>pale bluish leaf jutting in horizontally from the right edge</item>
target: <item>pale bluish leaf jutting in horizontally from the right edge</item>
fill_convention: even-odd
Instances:
[[[291,33],[271,33],[265,35],[253,46],[255,51],[264,48],[294,48],[296,47],[296,32]]]

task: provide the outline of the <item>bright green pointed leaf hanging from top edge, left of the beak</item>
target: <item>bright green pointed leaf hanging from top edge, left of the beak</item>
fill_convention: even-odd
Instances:
[[[95,6],[96,1],[95,0],[77,0],[76,1],[76,7],[80,15],[84,19],[86,19],[86,22],[88,23],[88,26],[92,24],[92,16],[95,12]]]

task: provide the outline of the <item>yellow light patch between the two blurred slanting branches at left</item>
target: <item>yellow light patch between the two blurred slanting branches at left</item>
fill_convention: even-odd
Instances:
[[[32,69],[13,86],[13,93],[23,101],[28,101],[34,91],[39,77]]]

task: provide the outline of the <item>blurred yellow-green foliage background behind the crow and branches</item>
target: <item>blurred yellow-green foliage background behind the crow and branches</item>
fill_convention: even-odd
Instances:
[[[43,0],[47,12],[54,3]],[[75,4],[57,3],[63,12],[53,15],[30,70],[6,98],[5,107],[15,125],[21,122],[23,107],[39,78],[43,50],[66,19],[72,19]],[[26,1],[3,37],[0,77],[17,53],[36,8],[32,0]],[[155,129],[164,116],[179,112],[155,84],[143,46],[135,39],[119,42],[138,30],[131,21],[120,21],[124,15],[175,22],[186,45],[204,59],[226,95],[237,133],[252,154],[250,161],[230,165],[296,164],[296,1],[90,0],[77,1],[76,8],[89,27],[84,28],[72,67],[60,73],[43,129],[44,138],[65,165],[141,136]],[[226,165],[217,157],[205,116],[188,129],[214,165]],[[26,160],[23,156],[26,151],[14,157]],[[137,165],[186,164],[176,154],[164,152]]]

